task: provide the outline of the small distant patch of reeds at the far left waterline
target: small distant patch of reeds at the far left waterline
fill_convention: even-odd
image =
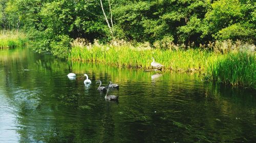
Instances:
[[[28,41],[22,32],[0,31],[0,48],[13,48],[24,46]]]

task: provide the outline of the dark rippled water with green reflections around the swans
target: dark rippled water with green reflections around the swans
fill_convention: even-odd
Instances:
[[[70,63],[17,48],[0,50],[0,79],[0,142],[256,140],[255,91],[205,83],[199,74]],[[110,91],[119,102],[104,100],[97,79],[120,85]]]

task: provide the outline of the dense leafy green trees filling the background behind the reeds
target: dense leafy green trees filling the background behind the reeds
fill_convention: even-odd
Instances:
[[[0,29],[25,30],[36,41],[36,50],[56,52],[78,37],[152,44],[239,39],[255,44],[255,7],[252,0],[0,0]],[[112,20],[110,27],[106,21]]]

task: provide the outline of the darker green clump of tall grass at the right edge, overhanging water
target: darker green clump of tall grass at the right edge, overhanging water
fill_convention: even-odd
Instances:
[[[254,52],[229,52],[219,55],[207,66],[205,80],[256,89]]]

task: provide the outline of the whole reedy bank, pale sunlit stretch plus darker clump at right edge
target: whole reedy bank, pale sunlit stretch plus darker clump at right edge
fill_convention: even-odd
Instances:
[[[101,45],[96,42],[88,46],[73,44],[68,59],[151,70],[153,57],[156,62],[164,65],[165,71],[201,72],[204,73],[206,81],[256,89],[255,53],[241,51],[241,48],[241,45],[230,44],[227,47],[217,45],[196,49],[176,47],[163,50],[148,45],[134,47],[130,44]]]

